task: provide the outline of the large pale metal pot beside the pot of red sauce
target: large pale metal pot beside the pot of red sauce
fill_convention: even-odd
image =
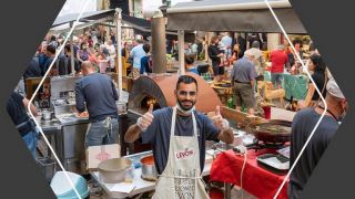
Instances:
[[[132,169],[132,160],[128,158],[106,159],[98,165],[98,169],[103,182],[122,182]]]

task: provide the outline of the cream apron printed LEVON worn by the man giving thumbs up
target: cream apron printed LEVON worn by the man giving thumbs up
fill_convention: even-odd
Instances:
[[[210,198],[201,179],[196,118],[192,113],[193,136],[175,136],[176,106],[173,108],[169,157],[159,177],[153,199]]]

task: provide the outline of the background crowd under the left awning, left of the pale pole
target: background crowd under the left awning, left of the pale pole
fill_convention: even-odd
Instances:
[[[97,32],[98,30],[90,29],[84,34],[74,36],[72,41],[73,49],[71,49],[70,41],[63,43],[64,39],[60,34],[44,38],[44,41],[33,55],[30,66],[23,74],[24,80],[43,76],[48,72],[57,53],[59,53],[59,56],[49,72],[51,76],[78,74],[81,72],[81,63],[87,60],[97,64],[99,64],[100,60],[106,60],[111,69],[114,69],[113,57],[115,56],[115,48],[112,43],[114,33],[112,33],[113,35],[108,41],[104,41],[98,39]],[[59,52],[62,45],[64,46]],[[71,57],[72,55],[73,57]],[[74,71],[72,71],[71,60],[74,61]]]

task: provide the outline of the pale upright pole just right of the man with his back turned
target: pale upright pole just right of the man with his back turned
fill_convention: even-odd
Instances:
[[[121,25],[122,25],[122,10],[116,8],[115,9],[115,22],[116,22],[116,43],[118,43],[118,48],[116,48],[116,57],[118,57],[118,65],[119,65],[119,71],[118,71],[118,84],[119,84],[119,93],[121,93],[122,91],[122,53],[121,53],[121,49],[122,49],[122,31],[121,31]],[[122,100],[122,95],[120,95],[119,101]]]

